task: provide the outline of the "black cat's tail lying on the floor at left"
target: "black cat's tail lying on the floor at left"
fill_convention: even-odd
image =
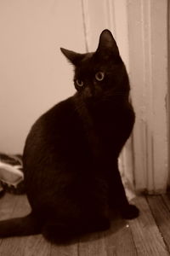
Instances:
[[[41,233],[41,224],[32,213],[22,218],[0,221],[0,237],[30,236]]]

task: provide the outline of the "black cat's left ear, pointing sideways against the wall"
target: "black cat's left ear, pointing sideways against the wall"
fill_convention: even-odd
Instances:
[[[65,57],[70,61],[73,65],[77,66],[77,64],[82,61],[84,54],[79,54],[73,50],[60,48],[61,52],[65,55]]]

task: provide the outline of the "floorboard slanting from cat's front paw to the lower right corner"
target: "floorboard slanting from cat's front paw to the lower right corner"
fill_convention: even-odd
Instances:
[[[133,240],[138,255],[167,256],[167,247],[161,233],[156,226],[150,207],[144,197],[139,196],[134,203],[140,209],[139,218],[129,221],[133,233]]]

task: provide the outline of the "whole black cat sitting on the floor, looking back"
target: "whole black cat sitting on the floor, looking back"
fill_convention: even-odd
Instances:
[[[23,163],[31,213],[0,222],[0,237],[42,233],[70,241],[110,227],[109,208],[139,215],[127,201],[117,158],[133,129],[129,81],[109,30],[94,53],[61,48],[77,93],[44,113],[26,139]]]

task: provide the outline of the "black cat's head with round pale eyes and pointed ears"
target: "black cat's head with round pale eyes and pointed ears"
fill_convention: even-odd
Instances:
[[[83,98],[122,96],[129,91],[126,68],[111,32],[105,29],[93,53],[79,54],[60,48],[75,67],[74,84]]]

